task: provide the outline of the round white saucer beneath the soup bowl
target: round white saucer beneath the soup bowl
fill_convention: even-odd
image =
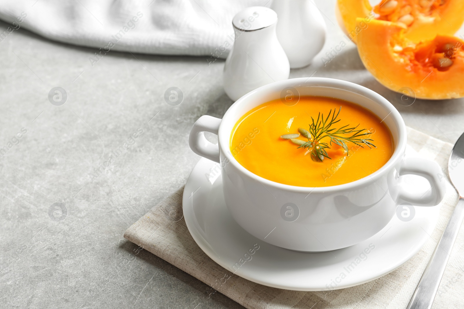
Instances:
[[[425,181],[408,177],[403,177],[404,182],[411,187]],[[303,291],[348,288],[395,270],[432,235],[439,212],[439,206],[414,207],[411,221],[400,221],[395,215],[379,233],[348,248],[291,251],[258,240],[233,220],[224,202],[219,164],[205,158],[188,177],[182,203],[190,234],[214,262],[258,284]]]

